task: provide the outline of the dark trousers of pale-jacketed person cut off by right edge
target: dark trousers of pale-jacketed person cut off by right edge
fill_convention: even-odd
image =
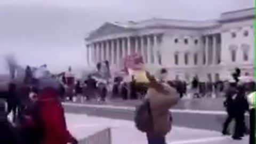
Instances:
[[[255,109],[250,110],[250,140],[249,144],[255,144]]]

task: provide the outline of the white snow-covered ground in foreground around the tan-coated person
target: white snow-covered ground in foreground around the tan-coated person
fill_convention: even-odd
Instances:
[[[66,114],[68,129],[78,139],[95,132],[111,128],[112,144],[145,144],[146,135],[139,132],[132,121],[117,120],[87,115]],[[222,137],[219,132],[189,129],[185,127],[173,127],[166,137],[168,144],[245,144],[248,138],[243,141],[234,141],[229,137]]]

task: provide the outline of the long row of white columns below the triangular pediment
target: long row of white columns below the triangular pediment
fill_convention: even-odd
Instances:
[[[145,63],[161,64],[162,62],[159,61],[161,38],[161,35],[145,35],[93,42],[87,45],[87,61],[90,61],[90,65],[108,60],[115,65],[123,62],[126,55],[139,53]]]

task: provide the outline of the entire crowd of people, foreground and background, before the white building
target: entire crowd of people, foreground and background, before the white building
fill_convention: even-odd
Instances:
[[[107,62],[105,66],[108,66]],[[78,143],[67,130],[61,100],[105,101],[109,92],[111,98],[143,99],[135,111],[134,122],[138,130],[146,133],[149,144],[166,144],[165,136],[172,129],[172,115],[169,109],[187,93],[191,93],[195,98],[222,93],[226,97],[224,106],[228,113],[222,134],[230,134],[228,125],[235,119],[232,138],[240,140],[244,134],[250,132],[250,142],[255,139],[253,125],[250,125],[250,129],[247,128],[244,116],[248,110],[251,115],[254,114],[254,109],[249,109],[250,102],[248,103],[246,95],[255,92],[255,83],[239,81],[239,69],[233,74],[234,81],[228,85],[220,81],[201,83],[195,77],[187,92],[186,82],[166,81],[168,71],[164,68],[160,70],[157,78],[147,72],[148,83],[138,83],[134,77],[131,82],[124,82],[122,77],[116,77],[114,84],[111,84],[108,80],[102,81],[102,75],[97,73],[88,75],[82,81],[75,78],[71,67],[60,75],[50,74],[46,67],[43,65],[32,69],[28,66],[22,83],[9,83],[7,109],[0,100],[1,143]],[[97,65],[97,68],[100,71],[102,66]],[[105,75],[109,75],[107,71]],[[113,85],[111,89],[109,85]],[[11,121],[7,118],[9,114],[13,116]],[[251,123],[254,123],[254,117],[250,118]]]

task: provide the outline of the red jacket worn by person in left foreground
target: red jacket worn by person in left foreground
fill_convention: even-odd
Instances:
[[[38,95],[38,102],[39,114],[44,125],[43,144],[77,143],[67,130],[58,91],[52,87],[44,88]]]

